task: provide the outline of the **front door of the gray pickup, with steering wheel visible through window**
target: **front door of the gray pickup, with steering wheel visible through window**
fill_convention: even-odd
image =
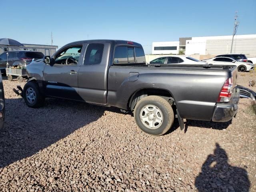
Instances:
[[[78,71],[82,63],[82,45],[60,50],[53,66],[44,67],[44,90],[47,96],[82,100],[78,94]]]

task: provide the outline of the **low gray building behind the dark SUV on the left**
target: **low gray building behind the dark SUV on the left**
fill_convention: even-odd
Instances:
[[[42,52],[44,55],[50,55],[54,54],[56,52],[56,49],[58,46],[51,46],[51,45],[36,45],[36,44],[23,44],[24,46],[18,47],[18,46],[8,46],[8,50],[24,50],[26,48],[29,51],[32,51],[33,49],[36,49],[36,51]],[[0,54],[4,52],[4,48],[7,46],[0,45]]]

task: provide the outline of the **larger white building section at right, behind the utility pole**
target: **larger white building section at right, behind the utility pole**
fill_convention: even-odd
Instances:
[[[186,54],[226,54],[230,53],[232,36],[192,37],[186,40]],[[256,34],[236,35],[232,53],[242,53],[249,57],[256,56]]]

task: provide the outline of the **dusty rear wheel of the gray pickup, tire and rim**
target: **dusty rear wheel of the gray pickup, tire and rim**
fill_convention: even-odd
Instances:
[[[148,107],[151,110],[154,110],[154,107],[159,110],[160,112],[153,112],[153,119],[148,116],[148,114],[145,114],[144,110]],[[156,110],[156,111],[157,111]],[[151,112],[150,112],[151,113]],[[158,115],[160,114],[160,115]],[[151,114],[150,114],[151,115]],[[144,118],[148,118],[145,122],[142,120],[143,116]],[[162,116],[161,123],[159,124],[156,122],[154,124],[154,120],[156,119],[156,116],[160,117]],[[172,110],[172,106],[166,101],[164,98],[160,96],[147,96],[143,99],[141,99],[135,106],[134,109],[134,118],[138,125],[138,127],[152,135],[160,136],[165,134],[171,127],[174,122],[174,112]],[[150,124],[148,122],[153,121],[153,126],[156,126],[156,128],[150,128]]]

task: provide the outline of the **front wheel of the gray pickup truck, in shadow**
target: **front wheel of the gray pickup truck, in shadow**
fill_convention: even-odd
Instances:
[[[29,95],[32,95],[32,99]],[[44,96],[41,94],[39,86],[36,82],[27,82],[23,89],[23,98],[27,106],[39,108],[44,105]]]

